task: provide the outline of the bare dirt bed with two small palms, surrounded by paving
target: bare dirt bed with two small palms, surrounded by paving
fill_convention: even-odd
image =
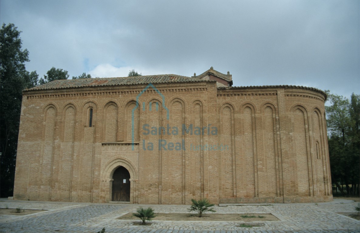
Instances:
[[[243,216],[243,217],[242,217]],[[251,217],[252,216],[252,217]],[[122,220],[140,220],[132,215],[132,213],[125,214],[117,219]],[[153,218],[156,221],[277,221],[279,220],[272,214],[203,214],[199,218],[197,214],[165,214],[158,213]]]

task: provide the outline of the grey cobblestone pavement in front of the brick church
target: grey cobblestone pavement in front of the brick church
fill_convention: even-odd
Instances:
[[[89,232],[96,233],[103,227],[106,233],[355,233],[360,232],[360,221],[337,214],[354,212],[358,202],[336,199],[333,202],[311,204],[247,204],[216,206],[217,213],[271,213],[279,221],[258,221],[261,227],[239,227],[242,221],[152,221],[152,225],[133,225],[134,220],[116,218],[134,212],[139,205],[90,204],[66,202],[10,201],[1,199],[0,208],[48,210],[34,214],[0,216],[0,232]],[[189,206],[152,206],[157,213],[188,213]],[[253,222],[254,223],[254,222]]]

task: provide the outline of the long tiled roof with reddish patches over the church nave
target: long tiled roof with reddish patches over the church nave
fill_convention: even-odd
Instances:
[[[26,89],[24,91],[77,88],[77,87],[99,87],[99,86],[123,86],[149,83],[181,83],[181,82],[208,82],[199,78],[190,78],[176,74],[159,74],[135,77],[118,78],[81,78],[61,79],[45,83],[43,85]]]

